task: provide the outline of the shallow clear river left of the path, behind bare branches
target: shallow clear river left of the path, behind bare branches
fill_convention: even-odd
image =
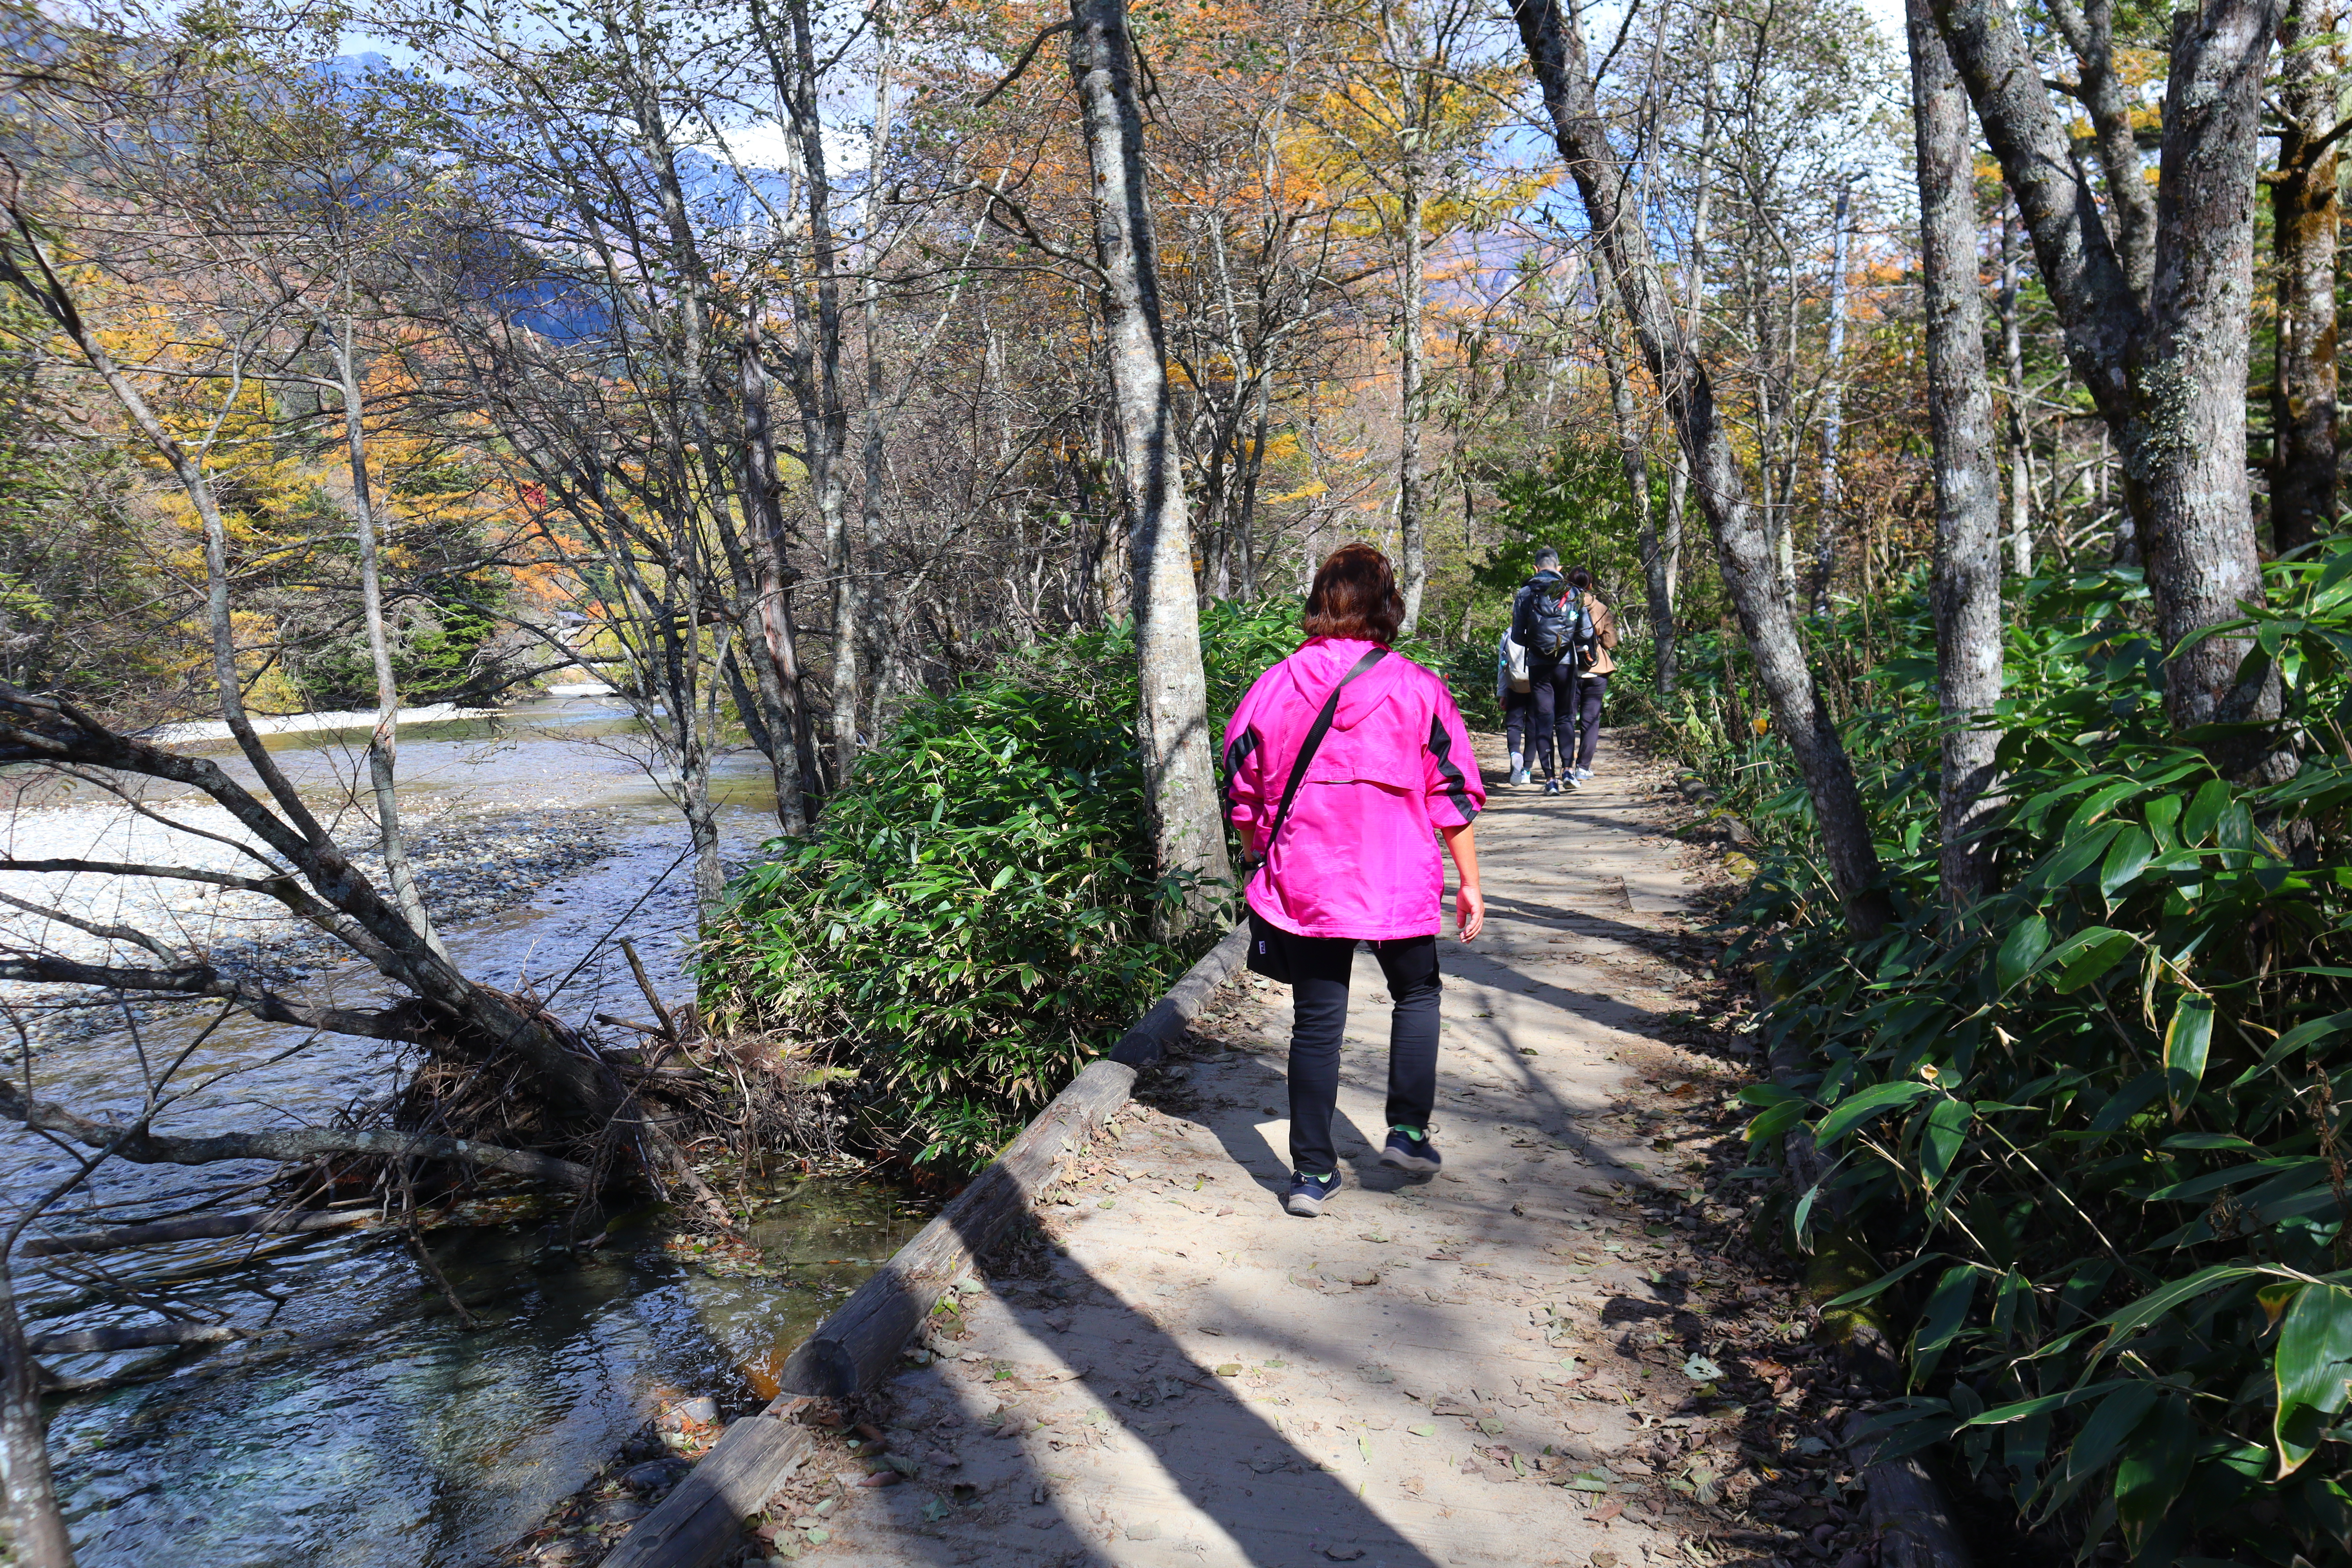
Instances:
[[[268,741],[322,813],[336,806],[365,733]],[[216,748],[195,748],[216,750]],[[649,778],[637,726],[609,701],[546,698],[496,717],[405,729],[400,799],[456,961],[494,985],[553,992],[557,1013],[644,1018],[626,961],[602,943],[630,936],[656,987],[684,994],[694,931],[691,865],[675,806]],[[226,748],[223,764],[242,769]],[[771,830],[767,766],[727,759],[715,795],[731,858]],[[209,809],[148,797],[172,823],[216,827]],[[358,813],[343,802],[343,820]],[[139,856],[165,830],[111,802],[19,806],[12,853]],[[186,849],[183,835],[169,835]],[[228,856],[228,851],[221,851]],[[155,858],[155,856],[143,856]],[[28,875],[0,891],[35,896]],[[191,891],[193,889],[193,891]],[[59,879],[45,891],[59,896]],[[259,903],[165,893],[78,877],[85,917],[169,919],[223,954],[343,1004],[381,983],[322,950],[285,940]],[[66,898],[59,898],[66,903]],[[496,907],[492,914],[477,914]],[[466,919],[466,914],[477,914]],[[24,936],[19,926],[19,936]],[[71,943],[73,933],[64,933]],[[569,978],[567,978],[569,976]],[[14,987],[0,999],[24,999]],[[209,1013],[87,1009],[38,1025],[35,1093],[82,1112],[139,1105],[139,1048],[179,1051]],[[132,1030],[136,1027],[136,1041]],[[397,1079],[393,1048],[299,1030],[228,1023],[174,1084],[207,1084],[160,1131],[228,1131],[327,1121]],[[68,1166],[21,1128],[0,1131],[0,1182],[38,1192]],[[254,1166],[247,1175],[266,1175]],[[165,1213],[230,1168],[108,1164],[54,1229]],[[877,1182],[774,1180],[753,1227],[779,1279],[722,1279],[661,1246],[666,1215],[609,1215],[593,1251],[567,1251],[553,1211],[499,1211],[428,1232],[452,1288],[475,1305],[466,1331],[400,1237],[205,1241],[73,1260],[19,1260],[35,1333],[155,1321],[153,1312],[226,1319],[261,1338],[186,1359],[155,1382],[52,1401],[59,1497],[89,1568],[416,1568],[492,1561],[579,1488],[677,1394],[750,1406],[771,1392],[764,1368],[828,1305],[922,1222]],[[233,1204],[245,1206],[245,1204]],[[40,1272],[38,1265],[52,1265]],[[103,1274],[85,1267],[103,1265]],[[111,1375],[155,1356],[59,1356],[64,1375]]]

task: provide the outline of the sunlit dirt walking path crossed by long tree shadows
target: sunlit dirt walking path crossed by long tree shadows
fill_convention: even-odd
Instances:
[[[1867,1563],[1825,1441],[1837,1387],[1797,1366],[1788,1284],[1703,1192],[1703,1171],[1755,1187],[1726,1180],[1740,1074],[1672,1044],[1710,987],[1686,936],[1710,856],[1670,837],[1691,811],[1668,783],[1611,748],[1581,795],[1494,790],[1486,936],[1446,954],[1439,1180],[1376,1161],[1388,1009],[1364,954],[1348,1190],[1282,1213],[1289,997],[1247,976],[934,1316],[929,1361],[858,1413],[877,1441],[774,1502],[767,1549]]]

